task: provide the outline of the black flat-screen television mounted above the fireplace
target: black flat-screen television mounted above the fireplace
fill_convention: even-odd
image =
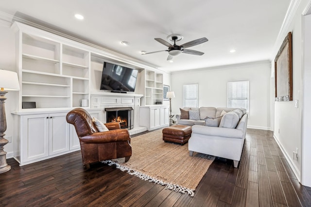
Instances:
[[[100,90],[134,92],[138,70],[117,64],[104,63]]]

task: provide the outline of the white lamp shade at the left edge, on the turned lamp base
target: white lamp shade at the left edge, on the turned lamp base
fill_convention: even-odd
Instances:
[[[17,73],[8,70],[0,70],[0,88],[5,91],[18,91],[19,82]]]

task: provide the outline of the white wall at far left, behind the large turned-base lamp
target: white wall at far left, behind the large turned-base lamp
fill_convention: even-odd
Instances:
[[[15,71],[15,34],[9,28],[9,26],[0,24],[0,69]],[[6,125],[7,129],[4,132],[5,136],[13,137],[13,115],[12,110],[17,107],[17,91],[9,91],[6,94],[5,100],[5,114],[6,114]],[[7,143],[4,146],[4,151],[7,152],[6,157],[13,157],[13,143]]]

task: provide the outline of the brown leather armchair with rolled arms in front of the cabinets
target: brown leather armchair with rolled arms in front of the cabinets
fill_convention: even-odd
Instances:
[[[128,161],[132,156],[129,132],[121,129],[119,123],[106,123],[104,125],[109,131],[99,132],[89,113],[82,108],[69,111],[66,120],[76,129],[86,169],[93,162],[116,158],[125,158]]]

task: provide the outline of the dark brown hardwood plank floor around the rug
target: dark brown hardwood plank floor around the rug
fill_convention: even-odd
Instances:
[[[133,138],[135,139],[135,137]],[[102,163],[86,171],[80,151],[0,174],[0,206],[311,207],[311,188],[294,176],[271,131],[248,129],[238,168],[216,159],[194,197]]]

